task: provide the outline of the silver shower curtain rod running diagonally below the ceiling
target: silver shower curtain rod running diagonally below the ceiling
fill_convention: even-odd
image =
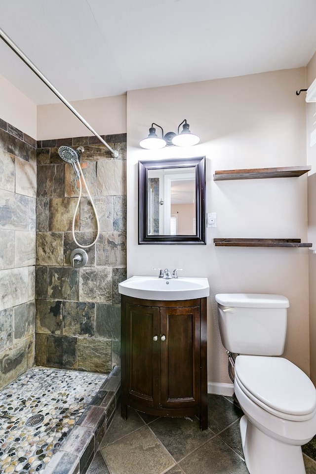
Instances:
[[[102,137],[91,127],[91,125],[77,112],[77,110],[61,95],[61,93],[53,86],[53,84],[40,72],[40,70],[32,63],[32,61],[21,51],[21,49],[4,33],[0,28],[0,38],[19,56],[20,59],[47,85],[47,87],[68,107],[68,109],[85,125],[108,150],[112,153],[113,158],[118,158],[118,152],[108,145]]]

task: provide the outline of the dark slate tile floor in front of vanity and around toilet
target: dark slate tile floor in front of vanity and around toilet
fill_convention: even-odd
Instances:
[[[197,418],[158,418],[119,408],[87,474],[248,474],[239,435],[242,412],[232,397],[208,395],[208,429]],[[316,440],[304,446],[316,474]]]

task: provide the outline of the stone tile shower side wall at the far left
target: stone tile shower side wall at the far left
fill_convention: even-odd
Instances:
[[[34,364],[36,147],[0,119],[0,389]]]

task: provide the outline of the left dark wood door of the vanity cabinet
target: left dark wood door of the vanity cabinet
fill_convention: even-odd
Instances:
[[[159,308],[126,304],[125,370],[130,399],[159,405]]]

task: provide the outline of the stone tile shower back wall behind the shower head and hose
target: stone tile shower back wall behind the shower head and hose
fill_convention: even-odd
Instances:
[[[36,363],[63,369],[109,373],[119,363],[120,295],[126,278],[126,135],[104,137],[112,158],[95,137],[38,142]],[[77,245],[72,220],[79,182],[71,164],[58,155],[61,145],[84,147],[81,168],[100,220],[100,237],[86,249],[88,263],[72,268]],[[94,240],[93,209],[82,190],[75,221],[76,239]]]

